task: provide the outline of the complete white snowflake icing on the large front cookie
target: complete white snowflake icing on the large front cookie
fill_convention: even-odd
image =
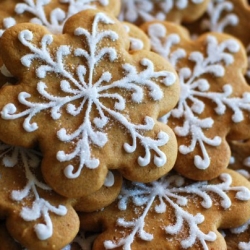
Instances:
[[[29,30],[21,31],[18,38],[31,52],[21,58],[21,63],[27,68],[31,67],[35,59],[42,63],[36,69],[36,75],[41,79],[37,83],[37,91],[43,102],[29,101],[31,95],[27,92],[21,92],[18,95],[18,101],[27,109],[18,112],[16,106],[9,103],[1,112],[2,118],[7,120],[26,117],[23,127],[27,132],[32,132],[39,128],[39,124],[31,120],[41,111],[49,110],[51,118],[58,120],[62,115],[62,107],[66,108],[69,115],[78,116],[82,112],[82,107],[85,106],[84,119],[75,131],[69,134],[64,127],[57,131],[57,137],[60,141],[72,143],[72,147],[74,147],[71,153],[58,151],[58,161],[65,162],[76,157],[80,158],[76,171],[72,165],[65,168],[64,174],[67,178],[78,177],[84,166],[90,169],[99,166],[99,159],[92,158],[91,147],[102,148],[108,142],[108,135],[103,132],[103,129],[109,124],[110,119],[118,122],[131,136],[132,143],[125,142],[123,144],[127,153],[133,153],[137,149],[137,143],[145,149],[145,155],[138,157],[140,166],[146,166],[153,160],[157,167],[161,167],[167,161],[165,153],[159,147],[168,142],[169,136],[163,131],[158,133],[157,139],[144,136],[145,131],[154,128],[154,119],[146,116],[144,124],[134,124],[129,118],[129,114],[122,113],[126,108],[126,99],[116,91],[119,88],[126,93],[131,93],[129,101],[135,104],[140,104],[144,99],[144,92],[148,91],[152,100],[157,102],[163,98],[163,91],[155,83],[155,80],[159,79],[162,86],[170,86],[174,84],[176,76],[169,71],[155,72],[153,62],[144,58],[140,62],[143,67],[140,72],[133,65],[124,63],[121,66],[123,75],[120,79],[113,80],[112,74],[109,71],[104,71],[101,77],[93,82],[93,74],[100,61],[106,58],[107,63],[112,63],[118,57],[115,47],[112,47],[112,44],[115,46],[119,39],[118,34],[104,28],[99,30],[99,23],[102,23],[105,27],[105,24],[113,24],[113,21],[104,13],[98,13],[94,18],[91,32],[81,27],[75,30],[75,36],[87,38],[88,44],[86,45],[89,46],[89,51],[83,48],[72,49],[67,45],[61,45],[56,48],[54,57],[48,48],[53,43],[52,35],[44,35],[39,43],[40,47],[37,47],[32,43],[33,33]],[[109,46],[98,48],[103,39],[110,41]],[[69,56],[83,58],[87,65],[73,65],[72,68],[69,68],[64,64],[64,60]],[[47,74],[56,74],[63,78],[63,80],[60,80],[60,96],[47,92]],[[113,109],[106,107],[103,102],[103,100],[109,99],[112,102],[115,101]],[[79,107],[73,104],[75,100],[81,101]],[[99,113],[99,116],[93,119],[90,118],[92,109],[96,109]],[[77,142],[75,142],[76,139]],[[152,153],[153,157],[151,156]]]

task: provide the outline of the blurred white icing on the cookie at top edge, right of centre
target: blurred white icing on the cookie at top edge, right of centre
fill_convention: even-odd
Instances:
[[[189,4],[201,5],[206,0],[122,0],[120,20],[138,22],[138,20],[166,20],[174,11],[183,11]],[[195,12],[195,10],[193,10]]]

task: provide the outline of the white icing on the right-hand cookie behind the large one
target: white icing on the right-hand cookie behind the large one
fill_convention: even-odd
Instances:
[[[210,91],[212,82],[208,82],[204,75],[210,74],[218,78],[223,77],[224,67],[234,62],[233,54],[239,51],[240,45],[232,39],[218,43],[216,37],[209,35],[205,44],[207,48],[206,55],[199,51],[187,55],[183,48],[178,48],[179,35],[170,34],[167,36],[167,30],[162,24],[150,25],[148,34],[152,50],[168,59],[180,77],[180,100],[176,108],[161,117],[160,120],[167,123],[171,116],[184,120],[183,126],[176,126],[174,131],[180,137],[190,136],[192,139],[189,146],[179,145],[179,152],[186,155],[199,146],[202,157],[196,155],[194,164],[198,169],[207,169],[210,165],[210,156],[206,150],[206,145],[219,146],[221,138],[219,136],[208,138],[204,134],[214,124],[212,117],[199,118],[199,115],[203,114],[205,109],[204,98],[216,104],[214,111],[218,115],[224,115],[227,108],[231,109],[233,112],[232,121],[238,123],[244,119],[243,110],[250,111],[250,93],[244,93],[241,98],[231,97],[233,87],[230,84],[225,84],[222,92],[212,92]],[[187,58],[187,56],[194,63],[194,68],[179,68],[177,66],[178,62],[183,58]]]

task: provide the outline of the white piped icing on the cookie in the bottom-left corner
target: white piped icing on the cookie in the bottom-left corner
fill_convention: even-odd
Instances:
[[[43,223],[36,224],[34,230],[38,239],[46,240],[53,235],[53,224],[50,218],[50,213],[58,216],[64,216],[67,213],[67,208],[64,205],[58,207],[52,205],[49,201],[40,197],[38,188],[46,191],[51,191],[51,188],[45,183],[39,181],[34,172],[38,168],[41,156],[32,150],[23,149],[20,147],[12,147],[7,144],[0,144],[1,161],[6,168],[19,167],[23,165],[27,184],[22,190],[11,191],[12,201],[18,203],[25,202],[25,200],[33,197],[32,207],[24,205],[22,207],[20,216],[25,221],[35,221],[42,218]],[[1,170],[0,170],[1,174]],[[24,203],[25,204],[25,203]]]

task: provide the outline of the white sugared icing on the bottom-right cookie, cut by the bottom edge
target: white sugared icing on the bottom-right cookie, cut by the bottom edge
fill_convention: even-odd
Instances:
[[[178,237],[184,225],[188,226],[189,235],[187,238],[180,240],[181,246],[187,249],[196,243],[200,243],[204,250],[208,250],[206,242],[215,241],[216,233],[212,231],[208,233],[202,232],[199,224],[205,223],[205,217],[201,213],[193,215],[185,210],[189,203],[196,200],[194,197],[201,199],[199,204],[204,209],[210,209],[212,206],[221,206],[225,210],[230,209],[232,202],[228,196],[229,191],[236,192],[235,198],[238,200],[250,200],[250,190],[246,187],[231,187],[232,177],[230,174],[221,174],[220,180],[221,182],[218,184],[194,182],[187,185],[183,177],[179,175],[167,175],[150,184],[136,182],[132,183],[132,185],[131,183],[128,185],[125,184],[119,196],[118,208],[120,210],[127,210],[131,205],[129,203],[132,202],[135,207],[142,208],[142,212],[138,212],[135,208],[135,214],[131,221],[119,218],[117,220],[119,227],[116,230],[120,230],[123,227],[129,229],[129,231],[126,231],[129,234],[121,232],[121,235],[124,236],[116,239],[115,242],[112,240],[105,241],[105,248],[123,247],[123,249],[132,249],[131,245],[135,237],[140,238],[142,241],[151,241],[154,238],[154,233],[144,230],[144,227],[147,226],[148,214],[152,212],[162,214],[171,207],[174,210],[173,216],[175,216],[176,220],[173,225],[161,226],[162,230],[166,234]],[[215,194],[217,198],[215,199],[215,196],[211,194]],[[189,197],[190,195],[192,195],[192,198]],[[217,200],[218,198],[220,201]],[[156,203],[154,203],[155,200],[157,200]]]

